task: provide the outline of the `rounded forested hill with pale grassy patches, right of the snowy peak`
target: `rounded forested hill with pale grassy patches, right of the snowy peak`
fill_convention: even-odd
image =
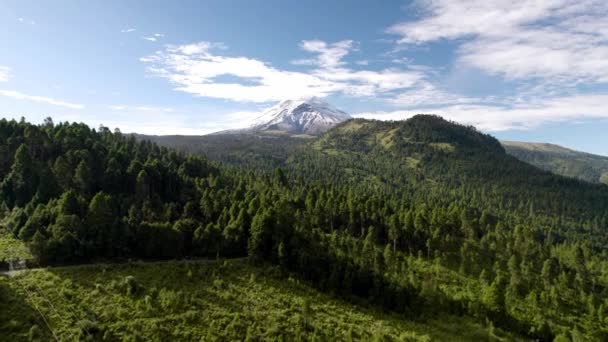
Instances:
[[[549,239],[593,235],[604,251],[608,242],[608,189],[538,170],[507,155],[495,138],[437,116],[351,120],[293,154],[288,165],[306,181],[401,202],[458,203],[512,224],[543,226]]]

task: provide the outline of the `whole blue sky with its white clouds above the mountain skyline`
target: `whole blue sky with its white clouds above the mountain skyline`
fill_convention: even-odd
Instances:
[[[0,108],[206,134],[316,95],[608,155],[607,15],[596,0],[4,0]]]

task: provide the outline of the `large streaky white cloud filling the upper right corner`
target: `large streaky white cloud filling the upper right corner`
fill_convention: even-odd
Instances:
[[[608,82],[608,3],[598,0],[418,2],[394,25],[401,44],[455,40],[457,62],[507,79]]]

